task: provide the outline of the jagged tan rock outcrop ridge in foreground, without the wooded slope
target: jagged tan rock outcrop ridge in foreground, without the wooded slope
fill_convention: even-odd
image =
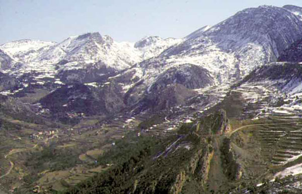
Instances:
[[[213,118],[214,116],[216,117]],[[212,115],[200,118],[198,123],[200,124],[182,125],[179,133],[187,136],[184,140],[180,140],[179,145],[176,146],[176,150],[179,152],[171,151],[164,158],[157,159],[154,164],[155,167],[163,168],[163,166],[166,167],[166,165],[174,162],[178,163],[177,167],[173,167],[173,170],[164,168],[165,172],[158,172],[156,177],[153,173],[158,170],[149,168],[143,175],[138,176],[135,181],[135,189],[131,193],[202,193],[208,189],[206,185],[210,166],[213,163],[211,160],[214,153],[218,152],[218,150],[213,149],[213,142],[208,140],[213,139],[214,136],[211,135],[218,137],[218,134],[225,131],[229,121],[225,111],[219,110]],[[180,145],[184,142],[192,143],[192,148],[189,151],[180,151]],[[184,153],[184,156],[175,157],[181,155],[181,152]],[[166,168],[170,169],[171,166]],[[154,178],[150,180],[150,176]]]

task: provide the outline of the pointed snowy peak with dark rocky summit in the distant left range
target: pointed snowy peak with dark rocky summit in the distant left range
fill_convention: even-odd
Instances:
[[[36,61],[52,61],[54,64],[61,61],[59,70],[83,69],[87,64],[102,61],[108,67],[122,70],[140,61],[131,48],[129,44],[114,42],[109,36],[87,33],[69,37],[50,47]]]

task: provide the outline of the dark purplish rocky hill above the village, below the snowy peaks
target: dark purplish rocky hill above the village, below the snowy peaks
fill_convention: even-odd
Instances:
[[[124,108],[119,85],[62,86],[40,100],[40,103],[60,119],[66,114],[102,115],[119,112]]]

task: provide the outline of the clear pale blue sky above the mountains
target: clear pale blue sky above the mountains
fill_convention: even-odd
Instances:
[[[146,35],[181,38],[240,10],[301,0],[0,0],[0,44],[19,39],[62,41],[87,32],[116,41]]]

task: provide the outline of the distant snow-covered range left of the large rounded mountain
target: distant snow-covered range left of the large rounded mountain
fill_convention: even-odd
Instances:
[[[21,76],[36,72],[54,77],[62,71],[100,69],[123,70],[144,59],[153,57],[182,39],[146,37],[136,43],[115,42],[98,32],[72,36],[60,43],[20,40],[0,46],[23,65],[7,73]],[[106,72],[105,72],[106,73]]]

